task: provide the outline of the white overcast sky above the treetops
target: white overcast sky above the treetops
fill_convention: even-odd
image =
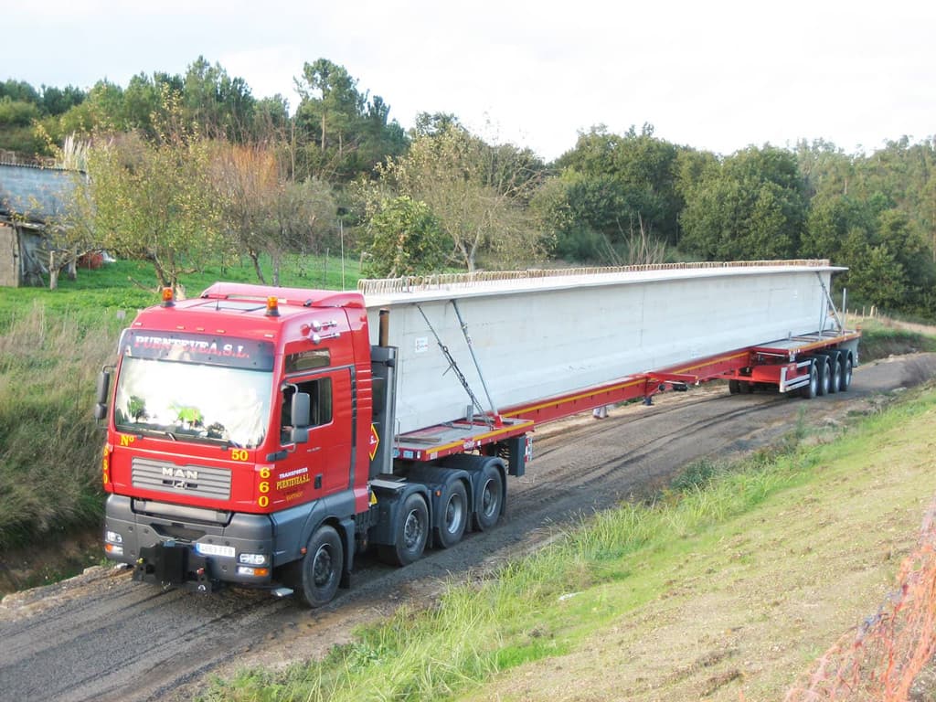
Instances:
[[[294,109],[328,58],[405,128],[453,112],[548,160],[593,124],[719,154],[936,134],[931,0],[0,0],[0,26],[0,80],[125,86],[203,55]]]

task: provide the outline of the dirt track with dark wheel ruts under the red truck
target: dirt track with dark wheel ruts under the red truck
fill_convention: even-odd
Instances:
[[[837,422],[934,371],[936,355],[895,358],[858,369],[850,392],[812,402],[731,396],[719,385],[619,409],[601,421],[554,425],[536,437],[528,474],[508,482],[508,512],[497,528],[407,568],[363,559],[353,589],[314,613],[262,592],[161,592],[104,568],[7,596],[0,605],[0,698],[188,699],[206,674],[318,655],[348,640],[358,623],[431,597],[448,578],[536,548],[576,514],[646,493],[689,461],[764,446],[800,417],[810,425]]]

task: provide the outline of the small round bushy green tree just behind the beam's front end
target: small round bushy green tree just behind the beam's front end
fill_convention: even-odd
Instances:
[[[401,196],[385,199],[367,225],[371,243],[364,274],[394,278],[439,271],[451,241],[425,202]]]

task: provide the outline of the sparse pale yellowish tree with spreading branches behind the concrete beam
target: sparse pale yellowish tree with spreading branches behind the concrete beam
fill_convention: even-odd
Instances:
[[[515,266],[545,256],[546,241],[524,206],[538,178],[515,147],[491,147],[448,124],[417,136],[405,156],[378,166],[382,183],[426,203],[452,242],[451,259],[475,271],[478,256]]]

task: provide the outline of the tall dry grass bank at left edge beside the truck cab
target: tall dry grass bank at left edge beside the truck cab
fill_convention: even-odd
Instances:
[[[39,303],[0,332],[0,550],[95,524],[103,435],[92,408],[121,321],[48,314]]]

